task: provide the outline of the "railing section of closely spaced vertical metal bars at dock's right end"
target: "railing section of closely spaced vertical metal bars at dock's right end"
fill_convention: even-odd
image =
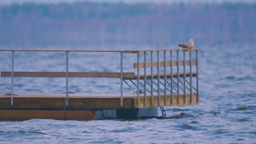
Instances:
[[[150,94],[150,105],[153,106],[154,103],[154,95],[156,94],[158,99],[158,106],[160,106],[160,97],[164,96],[164,105],[167,104],[167,95],[170,95],[170,104],[173,104],[173,95],[174,92],[177,94],[177,103],[179,104],[179,97],[183,94],[183,104],[187,103],[187,97],[185,95],[190,95],[191,104],[193,101],[193,92],[196,94],[196,103],[199,103],[199,57],[198,50],[201,49],[171,49],[171,50],[144,50],[138,51],[137,53],[137,65],[135,63],[135,68],[137,69],[137,77],[135,79],[124,79],[126,85],[128,85],[133,92],[137,94],[137,106],[140,105],[140,97],[141,94],[144,95],[144,106],[147,105],[147,93]],[[173,51],[176,51],[176,55],[173,55]],[[181,55],[179,52],[182,51],[182,61],[180,61]],[[150,57],[147,53],[150,52]],[[166,53],[170,52],[170,56],[168,57]],[[192,54],[195,52],[195,59],[192,58]],[[144,62],[140,62],[140,58],[142,53],[144,55]],[[189,53],[189,57],[186,57],[186,53]],[[153,55],[156,55],[156,74],[153,73],[154,70],[154,61]],[[160,61],[160,58],[163,58],[163,61]],[[150,63],[147,62],[147,59]],[[175,61],[176,60],[176,61]],[[168,62],[168,65],[167,65]],[[188,62],[188,63],[187,63]],[[147,64],[150,66],[147,67]],[[161,65],[162,64],[162,65]],[[173,65],[174,64],[174,65]],[[195,66],[193,70],[193,65]],[[176,66],[176,69],[174,68]],[[183,66],[183,67],[180,67]],[[170,73],[167,73],[167,67],[170,67]],[[188,67],[188,68],[187,68]],[[150,76],[147,75],[147,68],[150,68]],[[163,68],[163,70],[160,70]],[[144,71],[143,75],[141,75],[141,70]],[[176,73],[173,71],[176,70]],[[189,71],[187,73],[187,71]],[[193,73],[194,71],[194,73]],[[193,77],[195,77],[195,86],[193,86]],[[176,80],[174,80],[176,79]],[[130,84],[126,81],[129,80]],[[154,81],[155,80],[155,81]],[[136,81],[136,82],[134,82]],[[141,82],[143,81],[143,82]],[[148,82],[150,81],[150,82]],[[133,88],[134,86],[135,88]],[[143,90],[141,89],[143,88]],[[147,89],[149,87],[150,89]],[[156,87],[156,88],[155,88]],[[195,88],[196,87],[196,88]],[[135,90],[137,89],[137,91]],[[182,93],[181,93],[182,92]]]

